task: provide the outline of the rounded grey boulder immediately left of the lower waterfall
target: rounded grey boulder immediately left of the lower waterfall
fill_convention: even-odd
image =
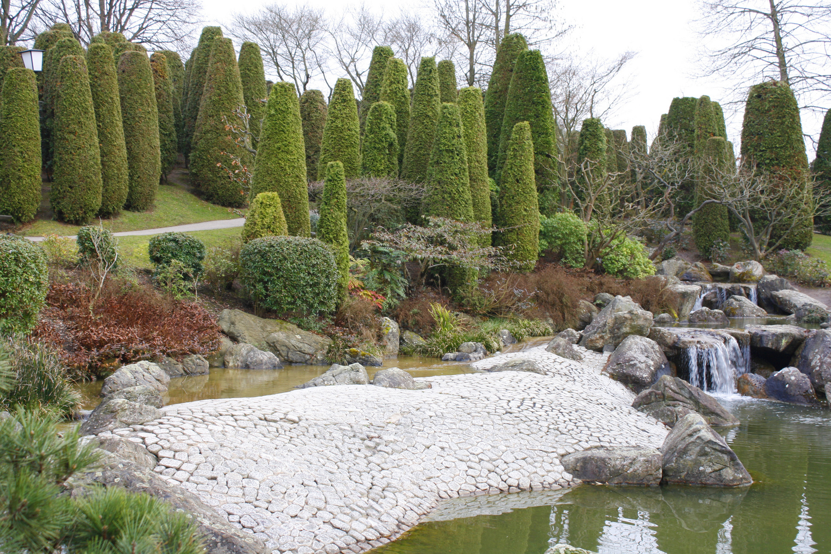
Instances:
[[[652,386],[661,375],[669,375],[670,362],[656,341],[630,335],[612,352],[603,371],[639,393]]]

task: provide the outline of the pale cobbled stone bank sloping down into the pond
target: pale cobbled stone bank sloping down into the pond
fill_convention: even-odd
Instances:
[[[666,428],[583,362],[544,351],[519,371],[430,377],[431,389],[316,387],[163,408],[113,434],[145,444],[157,473],[197,493],[274,554],[366,552],[416,525],[445,498],[578,484],[559,458],[593,446],[660,448]],[[109,434],[111,432],[106,432]]]

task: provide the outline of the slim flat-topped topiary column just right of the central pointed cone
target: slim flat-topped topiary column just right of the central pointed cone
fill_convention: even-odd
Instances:
[[[474,221],[490,228],[490,179],[488,177],[488,137],[484,127],[482,91],[467,86],[459,92],[459,110],[467,147],[470,200]],[[489,240],[486,241],[490,243]]]

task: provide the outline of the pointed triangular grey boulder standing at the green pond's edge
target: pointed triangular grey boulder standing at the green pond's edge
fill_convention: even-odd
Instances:
[[[742,487],[750,473],[700,414],[686,414],[661,445],[663,483]]]

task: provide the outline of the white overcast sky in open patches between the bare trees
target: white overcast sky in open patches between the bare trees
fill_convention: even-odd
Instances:
[[[255,11],[274,0],[202,0],[206,24],[219,25],[229,21],[230,12]],[[278,0],[279,2],[279,0]],[[309,0],[312,5],[331,7],[340,12],[347,2]],[[359,3],[355,0],[350,3]],[[401,7],[411,9],[411,0],[365,0],[367,7],[389,15]],[[418,2],[422,3],[422,2]],[[424,2],[426,3],[426,2]],[[725,96],[723,84],[715,79],[696,78],[701,63],[696,54],[699,39],[694,28],[698,17],[697,0],[559,0],[560,15],[576,28],[566,42],[576,51],[593,50],[597,55],[612,58],[623,51],[637,51],[625,77],[633,96],[609,126],[632,130],[633,125],[646,125],[649,139],[657,130],[661,114],[666,113],[675,96],[709,95],[715,101]],[[754,83],[747,82],[745,86]],[[728,138],[738,151],[741,132],[741,111],[728,115]],[[806,133],[819,135],[822,120],[803,114]],[[809,143],[809,160],[814,158]]]

